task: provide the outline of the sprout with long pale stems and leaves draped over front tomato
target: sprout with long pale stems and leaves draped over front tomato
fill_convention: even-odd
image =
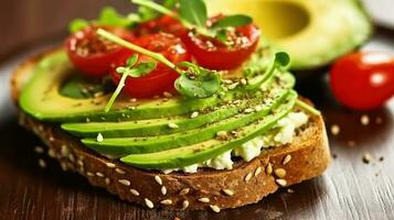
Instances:
[[[180,77],[175,81],[175,89],[179,94],[185,97],[199,99],[207,98],[214,96],[221,89],[221,77],[215,70],[205,69],[189,62],[183,62],[175,65],[169,59],[167,59],[162,54],[155,53],[143,47],[140,47],[103,29],[97,30],[97,34],[126,48],[135,51],[139,54],[143,54],[175,70],[180,75]],[[140,66],[140,64],[136,65],[134,57],[129,58],[125,67],[118,67],[116,70],[117,73],[123,74],[123,77],[120,79],[118,88],[116,89],[113,98],[106,107],[106,111],[109,111],[116,97],[119,95],[121,88],[125,86],[125,81],[128,76],[135,77],[136,75],[138,75],[138,77],[140,77],[141,73],[147,74],[153,70],[155,68],[156,66],[149,64],[145,64],[143,66]]]

